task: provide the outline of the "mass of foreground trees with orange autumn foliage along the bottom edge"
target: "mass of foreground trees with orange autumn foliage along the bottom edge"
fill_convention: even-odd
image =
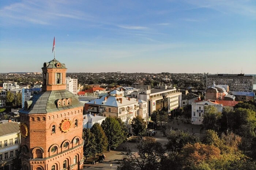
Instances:
[[[138,153],[129,153],[117,169],[256,169],[256,163],[238,149],[241,138],[233,132],[226,131],[219,137],[214,130],[207,130],[200,141],[188,132],[172,131],[167,139],[165,147],[155,139],[141,139],[136,144]]]

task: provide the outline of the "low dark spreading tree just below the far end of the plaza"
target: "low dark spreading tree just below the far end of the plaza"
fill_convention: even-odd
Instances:
[[[180,151],[187,143],[199,142],[199,138],[184,131],[171,131],[167,135],[168,143],[165,145],[169,151]]]

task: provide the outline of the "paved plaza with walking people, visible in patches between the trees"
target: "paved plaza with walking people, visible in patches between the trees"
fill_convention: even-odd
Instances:
[[[204,134],[204,131],[202,134],[200,134],[199,125],[184,124],[182,123],[181,118],[178,118],[178,120],[174,118],[171,122],[168,122],[167,131],[172,130],[172,128],[173,129],[178,128],[183,131],[184,130],[188,131],[189,133],[195,133],[196,136],[201,138],[203,136],[202,134]],[[193,128],[193,132],[192,132],[192,128]],[[155,138],[157,142],[161,143],[162,146],[164,146],[168,142],[167,138],[163,137],[163,134],[160,133],[160,130],[156,130],[156,131],[157,131],[157,134],[153,138]],[[126,147],[127,151],[128,151],[128,148],[130,147],[133,153],[136,152],[135,143],[132,143],[132,142],[121,143],[121,145],[118,146],[115,150],[104,152],[106,159],[103,162],[96,163],[95,165],[91,165],[91,164],[84,165],[84,169],[91,169],[91,170],[116,169],[117,166],[119,165],[119,162],[123,159],[124,155],[127,153],[127,151],[123,150],[123,147]],[[110,168],[110,161],[112,162],[111,168]]]

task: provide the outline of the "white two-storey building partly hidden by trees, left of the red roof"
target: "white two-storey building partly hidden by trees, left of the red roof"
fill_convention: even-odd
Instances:
[[[218,112],[222,112],[222,104],[216,102],[210,102],[208,100],[202,102],[192,103],[192,115],[191,115],[191,122],[192,124],[202,124],[204,118],[204,106],[214,106],[217,108]]]

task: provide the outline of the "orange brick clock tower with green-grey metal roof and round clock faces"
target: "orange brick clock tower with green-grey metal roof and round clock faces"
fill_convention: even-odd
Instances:
[[[23,170],[83,169],[83,104],[66,89],[65,64],[44,63],[42,91],[19,110]]]

